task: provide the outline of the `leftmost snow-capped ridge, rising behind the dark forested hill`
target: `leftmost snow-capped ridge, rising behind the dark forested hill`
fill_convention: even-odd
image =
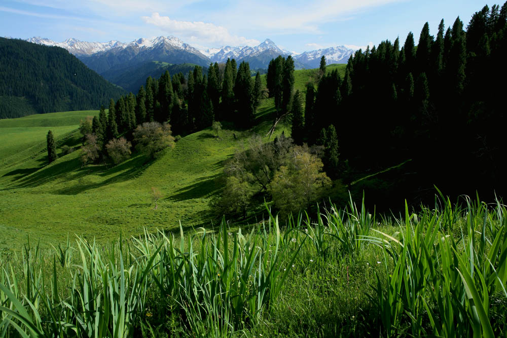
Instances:
[[[109,42],[85,42],[79,41],[74,38],[67,39],[63,42],[55,42],[53,40],[49,40],[39,36],[30,37],[30,39],[26,39],[26,41],[39,45],[58,46],[61,48],[65,48],[67,51],[69,51],[69,53],[74,54],[76,56],[92,55],[95,53],[110,50],[112,48],[117,47],[124,48],[127,45],[125,43],[114,40]]]

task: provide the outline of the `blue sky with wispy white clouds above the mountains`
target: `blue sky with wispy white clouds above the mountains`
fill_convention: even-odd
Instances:
[[[466,25],[488,3],[478,0],[2,0],[0,36],[61,42],[131,42],[174,35],[200,48],[255,46],[271,39],[301,53],[340,45],[416,39],[427,21]],[[489,6],[495,3],[489,3]],[[500,6],[503,3],[498,3]]]

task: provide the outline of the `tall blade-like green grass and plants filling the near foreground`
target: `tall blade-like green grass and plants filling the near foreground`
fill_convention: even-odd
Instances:
[[[28,243],[2,257],[0,332],[503,336],[506,221],[479,200],[382,221],[350,202],[237,231]]]

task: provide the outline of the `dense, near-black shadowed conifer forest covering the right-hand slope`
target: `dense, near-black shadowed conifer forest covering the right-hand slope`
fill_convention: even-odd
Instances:
[[[505,192],[507,3],[485,6],[466,28],[459,17],[447,28],[442,20],[436,36],[426,23],[417,45],[412,32],[400,44],[359,50],[343,79],[332,71],[308,83],[304,111],[292,119],[295,141],[324,145],[335,177],[344,170],[339,139],[357,172],[411,159],[418,194],[432,196],[433,184],[450,195]]]

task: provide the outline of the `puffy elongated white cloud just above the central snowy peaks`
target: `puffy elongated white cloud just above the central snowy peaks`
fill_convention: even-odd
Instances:
[[[232,35],[223,26],[202,21],[177,21],[159,13],[141,17],[144,22],[157,26],[169,34],[176,35],[192,43],[213,46],[256,46],[260,42],[255,39],[246,39],[243,36]]]

